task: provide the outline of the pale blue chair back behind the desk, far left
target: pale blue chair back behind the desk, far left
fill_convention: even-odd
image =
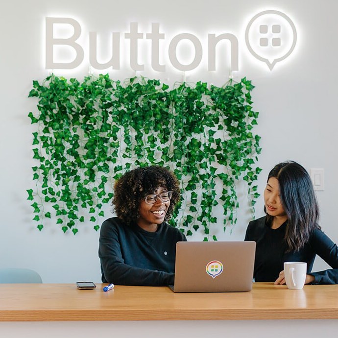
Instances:
[[[34,270],[7,267],[0,268],[0,283],[42,283],[42,279]]]

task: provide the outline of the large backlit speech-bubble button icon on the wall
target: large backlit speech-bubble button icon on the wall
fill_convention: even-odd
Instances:
[[[246,26],[245,43],[250,53],[266,63],[272,71],[277,62],[285,60],[297,42],[297,31],[284,13],[267,10],[256,14]]]

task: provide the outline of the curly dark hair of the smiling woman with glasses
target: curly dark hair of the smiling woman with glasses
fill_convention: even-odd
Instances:
[[[127,225],[136,221],[142,199],[159,187],[172,191],[165,216],[165,220],[170,219],[175,205],[181,198],[180,188],[176,176],[170,170],[159,166],[133,169],[115,182],[112,204],[117,217]]]

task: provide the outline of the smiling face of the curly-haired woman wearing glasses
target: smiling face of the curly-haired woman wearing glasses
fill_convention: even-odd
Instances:
[[[166,191],[166,188],[159,187],[154,193],[158,195]],[[163,202],[159,197],[154,204],[146,204],[145,199],[142,199],[139,209],[140,217],[137,219],[137,224],[146,231],[155,232],[158,224],[164,222],[169,205],[170,201]]]

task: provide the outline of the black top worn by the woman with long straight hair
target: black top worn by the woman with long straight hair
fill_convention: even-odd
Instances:
[[[284,262],[306,262],[307,273],[314,276],[314,284],[338,284],[338,247],[320,229],[315,229],[310,240],[299,251],[286,252],[284,241],[287,224],[271,229],[266,217],[251,221],[244,241],[256,242],[254,267],[255,282],[274,282],[284,269]],[[311,272],[315,255],[333,269]]]

